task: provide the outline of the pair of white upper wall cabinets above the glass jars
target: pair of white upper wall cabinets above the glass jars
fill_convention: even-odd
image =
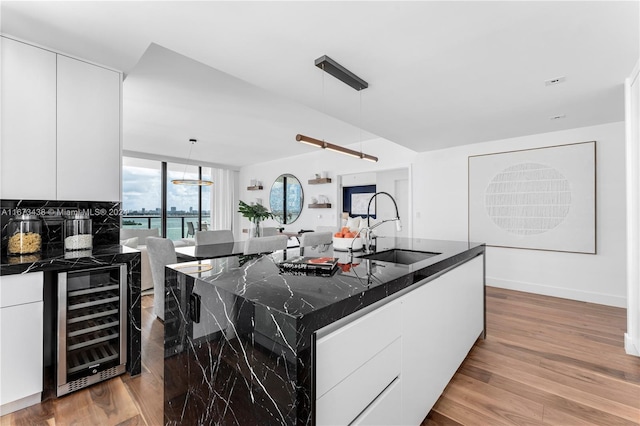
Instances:
[[[120,200],[121,74],[1,40],[0,197]]]

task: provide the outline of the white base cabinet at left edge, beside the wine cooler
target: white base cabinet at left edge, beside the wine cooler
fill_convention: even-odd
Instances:
[[[41,400],[43,279],[42,272],[0,277],[0,415]]]

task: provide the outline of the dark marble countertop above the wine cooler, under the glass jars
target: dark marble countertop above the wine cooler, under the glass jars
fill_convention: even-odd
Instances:
[[[37,254],[22,256],[3,255],[0,258],[0,275],[22,274],[36,271],[61,271],[95,266],[114,261],[125,261],[139,256],[136,249],[118,244],[94,247],[93,250],[65,252],[59,247],[45,247]]]

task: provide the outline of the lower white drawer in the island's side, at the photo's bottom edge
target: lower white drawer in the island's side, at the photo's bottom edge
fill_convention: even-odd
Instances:
[[[316,401],[316,424],[350,424],[375,401],[400,375],[401,340],[396,339],[320,397]]]

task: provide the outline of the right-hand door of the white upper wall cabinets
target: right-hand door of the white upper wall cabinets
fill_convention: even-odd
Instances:
[[[58,55],[59,200],[120,200],[120,74]]]

